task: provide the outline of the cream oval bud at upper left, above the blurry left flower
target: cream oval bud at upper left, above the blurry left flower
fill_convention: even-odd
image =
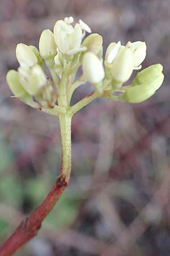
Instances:
[[[31,48],[22,43],[16,46],[16,58],[20,65],[27,65],[29,67],[36,64],[38,61]]]

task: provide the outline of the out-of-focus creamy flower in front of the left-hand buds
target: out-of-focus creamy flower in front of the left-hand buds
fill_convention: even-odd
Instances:
[[[46,85],[45,74],[38,64],[35,64],[32,67],[25,65],[20,66],[18,72],[20,83],[25,91],[31,96],[35,96],[40,89]]]

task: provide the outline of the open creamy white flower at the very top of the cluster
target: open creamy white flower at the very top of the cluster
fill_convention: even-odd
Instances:
[[[66,18],[65,20],[58,20],[54,25],[54,40],[59,51],[67,55],[86,51],[86,47],[81,47],[82,39],[85,35],[84,28],[82,30],[82,27],[78,23],[74,27],[71,26],[70,21],[72,19],[70,20],[70,18]],[[88,28],[86,27],[86,29]]]

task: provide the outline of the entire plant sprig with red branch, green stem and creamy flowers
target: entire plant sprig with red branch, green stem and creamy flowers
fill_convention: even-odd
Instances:
[[[72,26],[73,22],[73,17],[66,17],[56,22],[53,32],[42,31],[39,50],[19,43],[16,47],[18,71],[7,73],[7,83],[16,98],[58,118],[62,164],[59,177],[49,195],[0,247],[1,256],[11,255],[37,234],[41,222],[67,187],[71,173],[73,115],[99,97],[130,103],[145,101],[159,89],[164,80],[162,65],[155,64],[138,72],[133,82],[124,86],[134,69],[142,68],[146,43],[128,42],[122,46],[120,41],[112,42],[103,57],[101,35],[90,34],[84,39],[86,32],[91,33],[91,28],[82,20],[75,23],[75,26]],[[45,75],[43,61],[51,78]],[[79,69],[82,75],[77,78]],[[94,92],[71,105],[74,91],[80,85],[86,86],[87,81],[94,86]]]

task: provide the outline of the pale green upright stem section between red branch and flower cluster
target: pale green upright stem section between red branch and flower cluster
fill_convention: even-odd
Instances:
[[[61,133],[62,167],[60,175],[64,175],[69,181],[71,172],[71,118],[69,114],[59,115],[59,127]]]

